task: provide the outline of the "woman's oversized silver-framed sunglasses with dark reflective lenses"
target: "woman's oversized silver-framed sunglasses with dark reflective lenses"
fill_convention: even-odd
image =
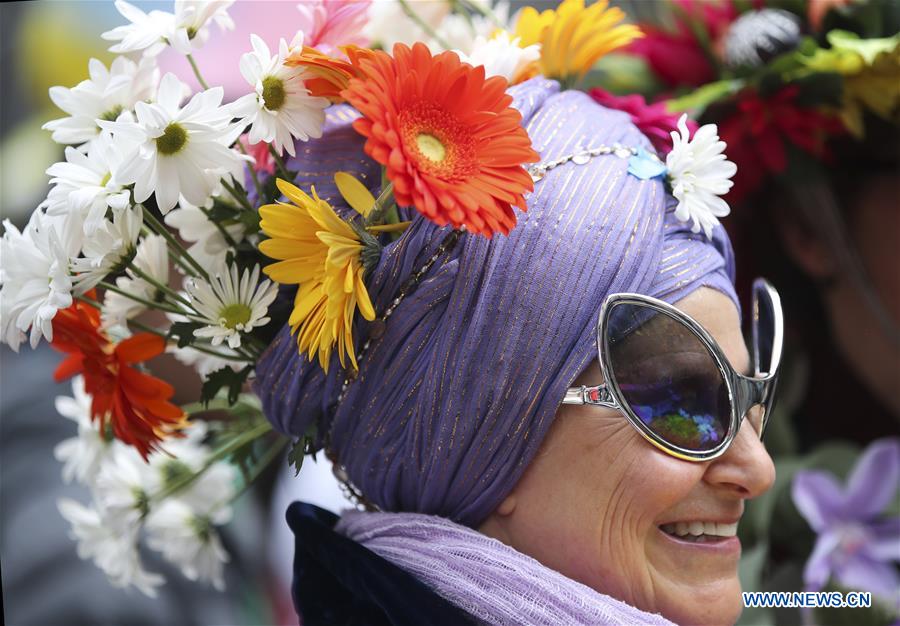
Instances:
[[[781,298],[753,283],[752,376],[737,372],[694,319],[632,293],[606,298],[597,322],[606,384],[572,387],[563,404],[622,411],[650,443],[688,461],[725,453],[749,416],[762,439],[772,411],[784,339]]]

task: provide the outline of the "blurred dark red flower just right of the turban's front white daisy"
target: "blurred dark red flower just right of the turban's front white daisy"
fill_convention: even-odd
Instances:
[[[795,102],[800,89],[789,85],[762,99],[756,92],[740,96],[734,115],[722,122],[719,137],[728,144],[728,158],[737,163],[729,197],[738,201],[765,180],[787,169],[786,142],[817,159],[827,160],[826,141],[842,134],[840,120]]]

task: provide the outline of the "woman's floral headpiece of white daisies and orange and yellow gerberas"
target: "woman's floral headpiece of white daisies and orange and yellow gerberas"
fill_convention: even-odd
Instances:
[[[290,44],[250,37],[235,68],[247,94],[223,103],[223,88],[207,85],[192,54],[213,22],[234,27],[230,5],[144,13],[117,0],[129,23],[104,38],[123,56],[109,68],[92,61],[89,79],[51,90],[67,115],[45,128],[67,145],[66,161],[48,170],[52,189],[29,224],[20,231],[7,222],[2,239],[3,341],[17,350],[26,334],[32,346],[46,338],[67,355],[56,378],[77,376],[76,398],[61,410],[80,434],[57,456],[67,478],[93,488],[94,502],[60,510],[82,555],[114,584],[148,595],[162,581],[141,568],[142,529],[186,575],[221,585],[227,557],[215,526],[243,490],[233,467],[246,486],[289,443],[242,393],[280,326],[290,325],[299,352],[325,371],[336,353],[346,390],[361,357],[357,314],[374,322],[373,334],[383,330],[460,238],[515,228],[514,207],[527,211],[550,170],[627,159],[632,176],[664,178],[676,217],[707,237],[728,213],[720,196],[735,172],[714,127],[697,130],[652,107],[633,118],[659,154],[532,148],[507,88],[539,74],[574,88],[604,55],[640,38],[605,1],[564,0],[512,19],[504,5],[474,0],[435,15],[405,0],[301,3],[305,25]],[[410,45],[396,41],[409,33]],[[201,91],[172,73],[160,79],[155,58],[166,48],[186,55]],[[353,128],[381,169],[375,184],[328,172],[340,202],[297,187],[283,158],[322,137],[336,103],[358,112]],[[413,219],[450,228],[376,311],[367,277]],[[173,404],[172,386],[146,371],[164,351],[200,373],[198,402]],[[212,409],[232,417],[207,426],[199,416]],[[298,467],[303,451],[291,455]],[[176,535],[190,549],[172,549]]]

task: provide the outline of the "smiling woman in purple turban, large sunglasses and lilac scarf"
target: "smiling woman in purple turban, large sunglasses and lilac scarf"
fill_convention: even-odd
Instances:
[[[325,448],[368,509],[289,509],[298,611],[733,622],[737,525],[774,478],[760,438],[777,294],[759,283],[748,351],[724,230],[666,191],[627,116],[544,78],[509,94],[541,157],[515,228],[459,236],[401,208],[412,223],[369,279],[358,372],[298,356],[287,327],[258,364],[269,419]],[[343,113],[298,156],[298,186],[329,184],[316,172],[332,155],[362,152],[345,132],[358,114]],[[688,196],[703,168],[732,171],[715,132],[696,135],[703,149],[686,127],[678,141]],[[398,146],[398,167],[440,156],[430,135]]]

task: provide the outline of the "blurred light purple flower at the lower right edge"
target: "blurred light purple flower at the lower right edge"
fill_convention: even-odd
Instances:
[[[794,477],[797,509],[818,539],[806,562],[807,587],[829,578],[847,589],[871,591],[891,604],[900,600],[900,517],[884,515],[900,485],[900,439],[879,439],[859,458],[846,487],[824,471]]]

